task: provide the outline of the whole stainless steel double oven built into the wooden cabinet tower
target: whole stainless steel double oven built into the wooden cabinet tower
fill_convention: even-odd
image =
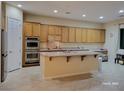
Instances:
[[[40,40],[39,37],[26,37],[25,64],[39,64]]]

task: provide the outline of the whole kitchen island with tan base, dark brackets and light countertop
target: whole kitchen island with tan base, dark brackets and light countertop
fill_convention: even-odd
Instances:
[[[42,79],[53,79],[98,71],[98,55],[98,52],[93,51],[41,52]]]

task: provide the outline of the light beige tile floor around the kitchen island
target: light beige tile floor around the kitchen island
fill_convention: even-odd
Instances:
[[[41,80],[40,66],[22,68],[8,74],[0,90],[25,91],[124,91],[124,65],[102,63],[102,72]]]

